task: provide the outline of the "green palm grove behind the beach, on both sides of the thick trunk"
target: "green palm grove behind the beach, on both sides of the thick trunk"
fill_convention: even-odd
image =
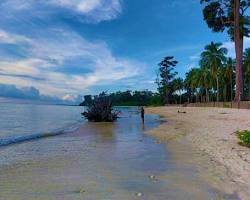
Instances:
[[[226,57],[227,50],[220,43],[211,43],[201,53],[200,66],[186,73],[184,88],[191,102],[203,98],[232,101],[236,84],[236,61]],[[244,52],[244,100],[250,100],[250,48]],[[218,82],[217,82],[218,81]],[[219,94],[217,96],[217,92]],[[182,95],[182,96],[183,96]]]

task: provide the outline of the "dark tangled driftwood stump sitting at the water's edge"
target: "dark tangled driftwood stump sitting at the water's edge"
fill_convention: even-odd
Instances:
[[[111,98],[103,92],[94,98],[82,115],[91,122],[113,122],[118,119],[119,112],[113,111]]]

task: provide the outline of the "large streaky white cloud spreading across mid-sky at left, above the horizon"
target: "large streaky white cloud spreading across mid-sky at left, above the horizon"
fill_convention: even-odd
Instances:
[[[143,73],[143,64],[113,56],[104,42],[87,41],[66,29],[46,32],[50,37],[35,39],[4,32],[9,41],[20,45],[25,43],[28,55],[20,60],[0,62],[1,83],[34,86],[43,94],[64,96],[82,93],[96,85],[115,84]],[[88,69],[88,72],[74,74],[58,70],[71,62],[76,62],[82,70]],[[66,66],[67,69],[70,67]],[[74,68],[69,71],[74,71]]]

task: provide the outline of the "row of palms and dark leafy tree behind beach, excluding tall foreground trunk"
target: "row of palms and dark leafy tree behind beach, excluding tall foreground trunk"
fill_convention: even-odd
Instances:
[[[233,101],[236,94],[236,61],[227,57],[221,43],[211,42],[200,55],[199,66],[185,78],[177,77],[177,61],[168,56],[159,63],[156,80],[162,104]],[[242,100],[250,100],[250,49],[243,54],[244,87]]]

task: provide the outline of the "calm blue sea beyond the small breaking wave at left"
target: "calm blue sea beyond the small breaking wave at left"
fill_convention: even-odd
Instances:
[[[0,146],[67,131],[83,123],[83,107],[0,103]]]

